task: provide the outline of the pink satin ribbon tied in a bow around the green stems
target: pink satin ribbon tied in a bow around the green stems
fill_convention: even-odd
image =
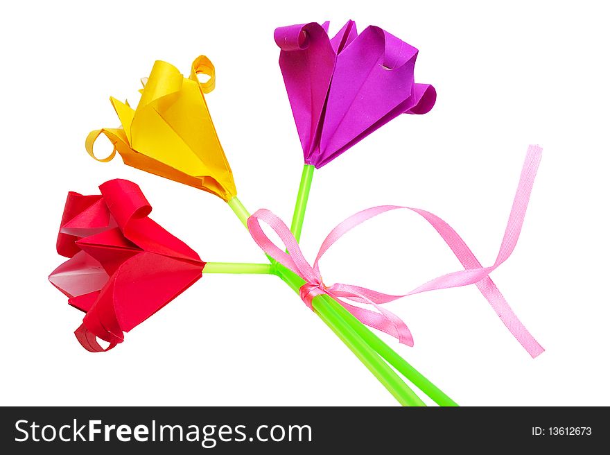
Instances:
[[[315,261],[313,261],[313,266],[308,264],[304,258],[303,253],[299,248],[299,243],[296,241],[286,224],[269,210],[260,209],[250,216],[247,221],[248,229],[250,230],[250,234],[254,241],[256,241],[266,254],[270,255],[270,257],[274,258],[280,264],[289,268],[305,280],[306,283],[300,289],[300,295],[309,308],[311,308],[311,301],[316,295],[329,295],[363,324],[390,334],[398,338],[401,343],[412,346],[413,338],[406,324],[398,316],[387,309],[384,309],[381,304],[421,292],[476,284],[479,291],[487,299],[489,304],[491,304],[491,307],[496,311],[500,320],[502,320],[517,341],[523,345],[525,350],[527,350],[532,357],[537,357],[544,352],[543,347],[534,339],[530,332],[528,332],[528,329],[525,328],[523,323],[521,323],[519,318],[514,314],[514,311],[512,311],[508,302],[496,287],[496,284],[491,281],[489,273],[496,270],[500,264],[508,259],[516,246],[521,227],[523,226],[525,212],[528,208],[528,202],[540,163],[541,153],[542,149],[539,146],[530,146],[528,148],[523,170],[521,171],[521,179],[519,180],[519,186],[517,187],[512,210],[504,233],[504,239],[500,245],[500,252],[498,252],[494,265],[489,267],[483,267],[481,265],[470,248],[464,243],[462,237],[460,237],[458,233],[441,218],[430,212],[426,212],[426,210],[412,207],[381,205],[379,207],[365,209],[362,212],[350,216],[337,225],[337,227],[326,236],[326,239],[322,242],[322,246],[320,246],[320,251],[317,253]],[[343,234],[355,228],[360,223],[379,214],[396,209],[408,209],[421,215],[428,221],[428,223],[430,223],[430,225],[440,234],[448,247],[451,248],[453,254],[458,257],[465,270],[437,277],[404,295],[385,294],[353,284],[337,283],[332,286],[326,286],[324,282],[322,282],[322,275],[320,275],[320,268],[318,266],[318,262],[322,258],[322,255],[324,255],[324,252],[340,239]],[[260,221],[264,221],[270,225],[279,235],[281,241],[284,242],[284,245],[290,254],[286,254],[286,252],[276,246],[275,243],[270,241],[261,229]],[[342,299],[361,304],[370,304],[378,312],[356,307]]]

